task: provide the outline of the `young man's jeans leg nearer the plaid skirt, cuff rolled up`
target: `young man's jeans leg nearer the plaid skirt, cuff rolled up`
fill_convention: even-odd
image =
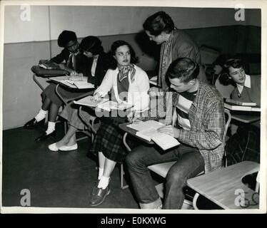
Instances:
[[[134,148],[126,156],[126,165],[133,184],[133,190],[141,209],[158,209],[162,206],[148,166],[176,161],[177,159],[176,152],[161,153],[155,147],[145,145]]]

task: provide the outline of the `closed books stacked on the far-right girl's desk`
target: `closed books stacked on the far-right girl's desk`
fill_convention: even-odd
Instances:
[[[244,103],[231,99],[226,99],[226,102],[224,103],[224,108],[239,111],[261,112],[261,107],[258,106],[256,103]]]

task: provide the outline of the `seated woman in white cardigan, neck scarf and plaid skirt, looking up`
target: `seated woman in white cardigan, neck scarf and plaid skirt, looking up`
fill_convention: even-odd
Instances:
[[[111,46],[111,54],[114,66],[107,71],[101,86],[96,89],[94,100],[99,100],[113,88],[118,103],[126,101],[134,105],[135,113],[147,110],[148,76],[145,71],[133,64],[136,63],[133,48],[125,41],[115,41]],[[123,133],[119,129],[119,123],[126,121],[126,116],[101,119],[101,126],[91,148],[92,152],[99,154],[99,181],[91,192],[91,206],[104,202],[110,192],[109,180],[116,162],[123,162],[126,157]]]

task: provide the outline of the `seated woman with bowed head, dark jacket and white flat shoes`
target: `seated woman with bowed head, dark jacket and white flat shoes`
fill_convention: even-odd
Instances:
[[[87,57],[82,73],[88,77],[89,83],[99,86],[108,68],[108,58],[101,46],[101,41],[96,36],[87,36],[81,41],[80,50]],[[89,113],[84,111],[83,113],[86,117],[89,116]],[[61,117],[69,122],[68,132],[59,142],[49,145],[49,150],[76,150],[78,148],[76,131],[84,129],[84,122],[79,117],[77,106],[73,103],[66,105],[61,112]]]

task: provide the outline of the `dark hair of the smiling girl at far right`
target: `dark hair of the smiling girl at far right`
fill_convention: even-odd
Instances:
[[[236,85],[236,83],[233,81],[229,74],[229,68],[243,68],[245,69],[245,63],[238,58],[230,58],[226,60],[226,62],[223,64],[223,71],[221,73],[220,78],[218,79],[221,84],[224,86],[227,86],[229,84],[232,84],[233,86]]]

